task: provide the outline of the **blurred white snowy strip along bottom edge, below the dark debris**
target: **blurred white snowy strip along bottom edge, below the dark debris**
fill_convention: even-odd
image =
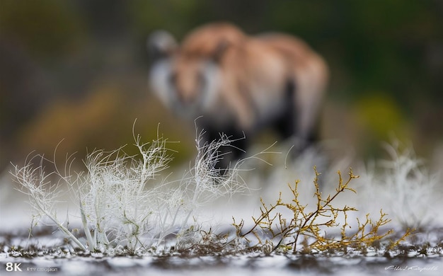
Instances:
[[[21,264],[16,275],[442,275],[443,258],[389,260],[381,257],[325,258],[284,255],[230,257],[86,257],[14,258],[0,254],[6,263]],[[5,275],[15,275],[8,272]],[[2,273],[3,275],[3,273]]]

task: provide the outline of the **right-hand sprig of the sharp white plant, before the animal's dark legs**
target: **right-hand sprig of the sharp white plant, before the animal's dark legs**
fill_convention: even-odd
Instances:
[[[220,169],[217,163],[224,158],[220,154],[220,148],[231,146],[233,140],[222,134],[220,139],[212,142],[202,142],[204,132],[197,135],[197,156],[195,163],[189,171],[185,172],[183,178],[176,183],[176,188],[171,188],[171,183],[163,185],[166,188],[166,197],[162,200],[159,214],[159,240],[169,234],[178,234],[178,243],[183,239],[190,238],[192,234],[189,229],[197,229],[198,226],[188,226],[189,219],[195,211],[219,197],[231,197],[234,193],[244,192],[248,189],[244,180],[239,176],[242,159],[236,161],[231,168]],[[160,189],[161,187],[159,187]],[[162,199],[163,198],[163,199]]]

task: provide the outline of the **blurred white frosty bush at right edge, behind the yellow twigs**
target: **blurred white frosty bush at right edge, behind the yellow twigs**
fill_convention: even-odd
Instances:
[[[438,224],[441,172],[430,173],[412,146],[402,149],[400,142],[394,141],[384,147],[389,159],[372,164],[367,173],[360,174],[363,200],[370,206],[374,202],[383,205],[383,210],[405,229]]]

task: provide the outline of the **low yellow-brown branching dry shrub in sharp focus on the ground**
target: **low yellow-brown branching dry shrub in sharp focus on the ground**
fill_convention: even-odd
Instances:
[[[349,178],[344,181],[340,171],[338,171],[338,187],[333,195],[323,197],[318,185],[319,173],[314,168],[316,177],[313,180],[313,185],[316,188],[314,196],[316,197],[316,208],[313,212],[306,210],[307,205],[302,205],[299,201],[299,181],[295,185],[289,185],[289,190],[292,192],[292,202],[283,202],[280,197],[275,204],[267,205],[261,200],[260,212],[258,217],[253,217],[253,226],[251,229],[245,231],[244,221],[236,223],[234,219],[234,226],[236,228],[237,238],[243,238],[246,241],[251,241],[251,236],[254,237],[258,244],[262,245],[263,252],[269,254],[272,251],[289,251],[293,253],[312,253],[314,251],[330,251],[338,248],[367,248],[374,243],[381,241],[393,233],[393,230],[388,230],[380,233],[381,227],[386,226],[391,221],[387,219],[386,213],[380,210],[379,219],[373,220],[370,215],[360,221],[357,219],[357,229],[349,233],[348,213],[356,212],[355,207],[333,206],[333,200],[344,192],[356,192],[350,188],[351,180],[358,178],[352,173],[352,169],[348,173]],[[284,216],[284,212],[280,209],[289,210],[291,217]],[[344,223],[340,226],[339,217],[344,218]],[[340,226],[340,236],[327,235],[327,229],[336,229]],[[389,248],[397,246],[403,241],[405,237],[409,236],[411,231],[406,233],[396,241],[391,242]],[[268,237],[263,241],[264,237]],[[299,248],[299,245],[302,248]],[[270,249],[272,248],[272,250]]]

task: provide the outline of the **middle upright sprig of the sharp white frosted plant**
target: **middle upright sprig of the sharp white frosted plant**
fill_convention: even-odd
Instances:
[[[140,156],[128,156],[122,149],[94,151],[85,162],[88,176],[79,187],[81,204],[102,246],[109,246],[113,234],[116,243],[137,249],[144,246],[140,237],[151,230],[157,190],[147,184],[168,168],[171,156],[161,137],[149,146],[139,136],[134,139]]]

